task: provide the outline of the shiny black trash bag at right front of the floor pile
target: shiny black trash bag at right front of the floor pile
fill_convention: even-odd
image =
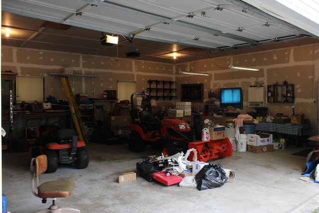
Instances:
[[[221,164],[205,165],[195,176],[197,189],[201,191],[224,185],[227,182],[228,177],[222,167]]]

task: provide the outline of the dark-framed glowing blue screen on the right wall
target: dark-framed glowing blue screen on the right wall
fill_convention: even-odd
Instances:
[[[220,108],[230,106],[243,109],[243,93],[241,87],[220,88]]]

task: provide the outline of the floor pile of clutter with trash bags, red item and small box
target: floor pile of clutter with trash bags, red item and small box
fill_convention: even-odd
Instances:
[[[197,161],[196,149],[188,149],[185,155],[180,152],[168,157],[149,156],[136,167],[140,176],[149,182],[155,180],[166,186],[179,184],[199,191],[220,187],[235,179],[234,170],[223,169],[221,164]],[[134,172],[124,173],[119,176],[119,183],[132,181],[133,176]]]

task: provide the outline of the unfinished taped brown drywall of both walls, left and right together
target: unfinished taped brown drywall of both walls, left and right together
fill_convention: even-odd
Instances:
[[[117,81],[136,81],[135,92],[147,91],[147,81],[171,80],[176,81],[176,101],[180,100],[180,84],[204,84],[203,102],[193,103],[203,106],[208,100],[208,90],[213,88],[242,87],[244,96],[244,109],[242,113],[253,111],[248,107],[248,87],[256,81],[265,86],[282,84],[288,81],[295,84],[295,103],[266,103],[268,112],[272,115],[284,113],[291,115],[292,107],[296,112],[302,112],[309,118],[317,134],[317,82],[319,81],[319,44],[305,45],[294,48],[283,48],[262,51],[252,54],[234,55],[208,60],[201,60],[176,65],[147,62],[132,59],[80,55],[43,50],[11,48],[2,46],[1,70],[11,70],[19,76],[42,76],[45,79],[45,97],[55,96],[65,99],[61,81],[51,77],[49,73],[61,73],[64,67],[73,67],[75,74],[97,75],[96,78],[77,77],[70,79],[73,94],[85,93],[90,98],[101,98],[104,90],[116,90]],[[229,69],[230,64],[258,67],[260,71],[240,71]],[[192,70],[207,72],[209,76],[189,76],[179,74],[179,70]],[[159,105],[173,104],[171,101]],[[216,102],[218,106],[218,102]]]

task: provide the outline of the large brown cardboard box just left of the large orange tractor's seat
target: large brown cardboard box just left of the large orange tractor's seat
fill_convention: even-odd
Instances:
[[[111,116],[111,130],[115,135],[130,134],[130,116]]]

